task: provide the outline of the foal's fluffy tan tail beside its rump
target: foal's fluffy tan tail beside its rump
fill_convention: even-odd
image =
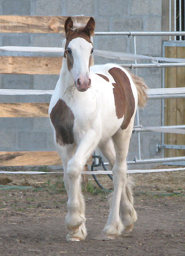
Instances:
[[[146,102],[148,100],[147,95],[147,85],[145,85],[144,80],[141,77],[135,76],[131,74],[131,78],[136,85],[137,94],[138,94],[138,106],[143,108],[146,105]]]

